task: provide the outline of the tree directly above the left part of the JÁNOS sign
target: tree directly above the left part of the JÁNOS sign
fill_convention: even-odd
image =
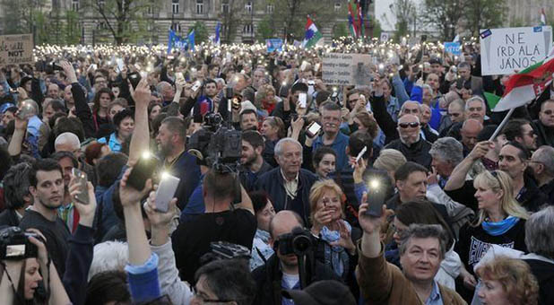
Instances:
[[[502,26],[506,18],[506,0],[466,0],[464,17],[472,35],[479,35],[480,29]]]

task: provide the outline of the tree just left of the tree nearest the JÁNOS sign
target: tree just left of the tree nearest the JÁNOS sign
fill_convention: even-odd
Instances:
[[[436,28],[445,41],[454,39],[456,26],[463,16],[463,0],[425,0],[420,20]]]

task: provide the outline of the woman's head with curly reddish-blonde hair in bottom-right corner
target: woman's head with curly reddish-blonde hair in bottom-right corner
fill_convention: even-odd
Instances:
[[[523,260],[496,257],[477,269],[481,285],[479,300],[487,305],[535,305],[539,283]]]

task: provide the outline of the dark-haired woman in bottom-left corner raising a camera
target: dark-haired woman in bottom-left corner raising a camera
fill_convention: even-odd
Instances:
[[[69,304],[62,281],[51,264],[48,250],[40,231],[30,229],[30,236],[19,228],[10,227],[1,231],[3,244],[13,245],[14,240],[24,242],[24,253],[21,258],[2,257],[0,263],[0,295],[3,304]],[[4,245],[3,245],[4,246]],[[9,246],[6,246],[9,247]],[[32,249],[34,248],[34,249]],[[32,253],[34,252],[34,253]],[[4,254],[5,255],[5,254]],[[39,293],[39,283],[45,283],[46,292]]]

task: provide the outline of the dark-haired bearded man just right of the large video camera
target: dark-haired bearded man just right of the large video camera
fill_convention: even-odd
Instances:
[[[262,152],[264,152],[264,137],[253,130],[243,132],[240,179],[247,191],[254,187],[255,180],[260,175],[273,169],[269,163],[264,161]]]

